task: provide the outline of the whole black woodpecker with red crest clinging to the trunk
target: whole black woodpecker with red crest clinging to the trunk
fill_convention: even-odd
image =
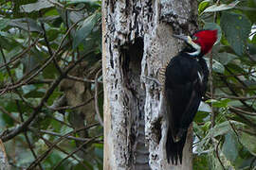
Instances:
[[[203,56],[217,40],[217,30],[201,30],[190,36],[174,35],[187,43],[165,69],[168,133],[167,161],[182,163],[182,151],[188,128],[206,93],[209,70]]]

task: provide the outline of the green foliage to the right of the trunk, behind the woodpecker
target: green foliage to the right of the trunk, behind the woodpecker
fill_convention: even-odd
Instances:
[[[256,166],[255,1],[202,1],[198,10],[202,28],[217,29],[219,39],[209,55],[213,93],[208,95],[204,111],[199,109],[193,123],[198,141],[194,146],[193,167],[253,169]],[[210,59],[207,60],[210,64]]]

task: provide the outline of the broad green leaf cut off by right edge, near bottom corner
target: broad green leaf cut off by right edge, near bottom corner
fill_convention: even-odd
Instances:
[[[256,137],[253,135],[249,135],[246,132],[242,132],[242,135],[239,139],[240,142],[247,147],[248,151],[252,155],[256,156]]]

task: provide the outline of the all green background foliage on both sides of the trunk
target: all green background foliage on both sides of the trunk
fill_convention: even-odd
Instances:
[[[85,105],[85,116],[80,114],[81,107],[72,108],[92,98],[90,94],[95,90],[94,83],[78,82],[94,79],[101,69],[101,1],[54,2],[0,1],[1,133],[18,127],[38,110],[24,129],[26,133],[22,131],[5,143],[9,161],[12,169],[26,169],[35,161],[44,169],[102,169],[102,127],[76,131],[80,124],[97,122],[91,110],[94,105]],[[194,169],[256,166],[255,11],[255,0],[199,2],[199,26],[217,29],[218,40],[210,54],[213,93],[208,93],[193,123],[197,140]],[[62,77],[61,84],[50,89],[68,66],[83,57],[79,66],[68,73],[69,78],[78,76],[80,81]],[[72,94],[76,97],[72,98]],[[68,102],[61,105],[66,96]],[[80,101],[75,100],[80,97]],[[99,94],[101,114],[102,98]],[[64,135],[68,138],[61,137]],[[84,144],[81,138],[92,141],[78,149]],[[31,149],[37,159],[43,159],[37,160]]]

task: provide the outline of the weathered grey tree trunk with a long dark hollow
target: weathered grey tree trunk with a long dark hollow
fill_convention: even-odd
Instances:
[[[102,2],[104,169],[192,169],[192,128],[183,164],[166,161],[167,122],[158,78],[196,29],[196,0]]]

